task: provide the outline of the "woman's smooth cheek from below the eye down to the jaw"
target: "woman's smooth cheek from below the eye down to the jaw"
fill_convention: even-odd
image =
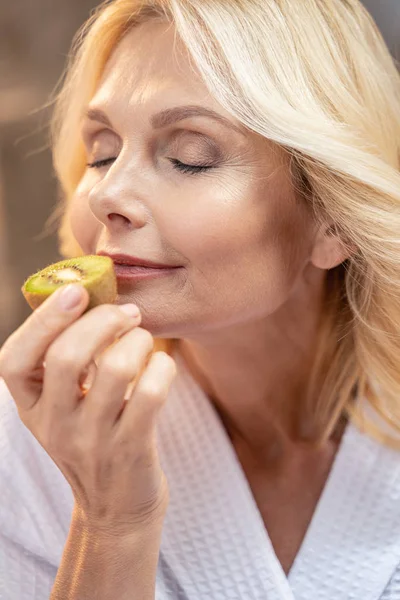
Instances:
[[[219,203],[213,195],[171,227],[170,239],[188,260],[196,302],[220,324],[276,311],[312,248],[305,213],[278,195],[225,196]]]

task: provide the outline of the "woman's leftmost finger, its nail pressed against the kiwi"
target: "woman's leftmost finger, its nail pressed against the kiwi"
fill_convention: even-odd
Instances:
[[[19,408],[29,408],[37,401],[37,386],[31,385],[31,376],[37,378],[50,344],[84,312],[88,302],[89,294],[83,286],[62,286],[33,311],[3,345],[0,375]]]

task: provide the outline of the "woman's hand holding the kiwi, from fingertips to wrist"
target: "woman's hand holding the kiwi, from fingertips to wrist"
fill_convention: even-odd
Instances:
[[[79,518],[91,531],[129,533],[162,519],[168,505],[155,423],[176,366],[164,352],[151,356],[154,340],[138,326],[140,316],[109,304],[81,316],[88,293],[68,287],[80,291],[78,304],[63,307],[65,287],[52,294],[3,345],[0,375],[23,423],[71,485]]]

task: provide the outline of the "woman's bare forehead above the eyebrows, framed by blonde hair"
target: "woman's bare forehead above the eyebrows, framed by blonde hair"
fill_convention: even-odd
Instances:
[[[174,26],[150,21],[129,31],[115,48],[93,100],[109,104],[119,99],[137,107],[156,97],[176,100],[177,95],[182,104],[196,101],[218,108]]]

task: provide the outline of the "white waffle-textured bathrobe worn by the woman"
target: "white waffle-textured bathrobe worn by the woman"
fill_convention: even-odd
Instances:
[[[400,453],[348,425],[286,576],[217,413],[175,359],[157,430],[170,504],[156,600],[400,600]],[[48,600],[72,507],[0,380],[1,600]]]

